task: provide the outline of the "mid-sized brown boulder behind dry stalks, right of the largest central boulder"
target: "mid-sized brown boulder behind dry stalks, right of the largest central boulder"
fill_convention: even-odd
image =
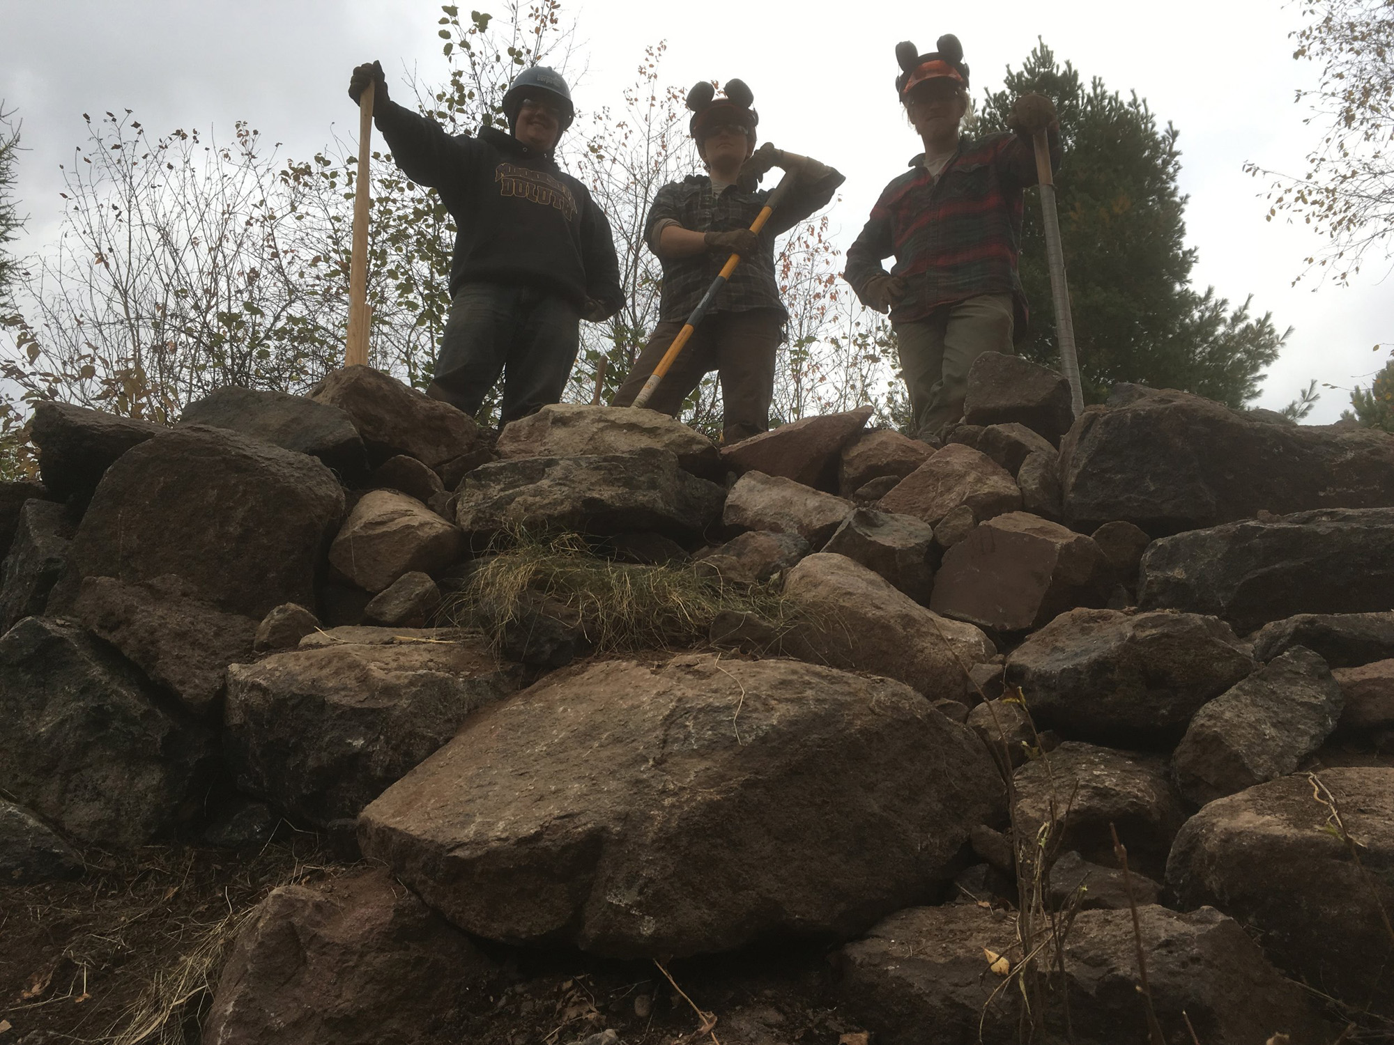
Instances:
[[[1110,832],[1117,828],[1129,867],[1157,878],[1186,819],[1164,758],[1093,744],[1065,741],[1026,762],[1012,776],[1012,790],[1019,837],[1036,839],[1048,825],[1052,846],[1118,867]]]

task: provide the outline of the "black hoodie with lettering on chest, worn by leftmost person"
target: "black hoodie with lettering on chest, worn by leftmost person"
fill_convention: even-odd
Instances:
[[[449,135],[395,102],[374,123],[413,181],[441,194],[454,217],[450,295],[463,283],[546,287],[577,308],[594,298],[611,316],[625,304],[605,213],[551,156],[495,127]]]

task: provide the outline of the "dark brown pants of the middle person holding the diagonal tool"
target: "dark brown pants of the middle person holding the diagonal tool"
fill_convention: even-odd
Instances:
[[[683,323],[659,323],[634,361],[615,405],[627,407],[658,366]],[[711,371],[721,375],[722,442],[739,443],[769,429],[775,389],[775,353],[783,340],[783,315],[776,308],[712,312],[693,330],[683,354],[648,400],[650,410],[677,415],[683,401]]]

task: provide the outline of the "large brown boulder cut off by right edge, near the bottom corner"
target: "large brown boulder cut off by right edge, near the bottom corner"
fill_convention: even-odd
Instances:
[[[1185,907],[1228,911],[1289,975],[1394,1013],[1394,769],[1285,776],[1210,803],[1177,835],[1167,885]]]

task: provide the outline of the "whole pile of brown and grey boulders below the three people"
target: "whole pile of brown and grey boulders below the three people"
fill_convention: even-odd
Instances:
[[[1139,946],[1167,1041],[1394,1014],[1394,438],[1135,386],[1072,422],[1008,357],[942,449],[870,418],[491,442],[361,366],[171,429],[40,404],[0,876],[237,818],[361,853],[248,917],[208,1045],[456,1041],[534,949],[825,952],[843,1042],[1146,1042]],[[460,626],[558,532],[789,612],[629,653],[556,592]],[[756,1016],[721,1039],[788,1039]]]

